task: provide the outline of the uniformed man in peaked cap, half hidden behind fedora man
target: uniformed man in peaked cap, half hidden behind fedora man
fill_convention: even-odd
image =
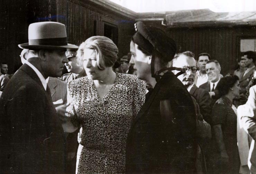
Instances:
[[[76,57],[77,49],[67,49],[66,57],[68,62],[65,63],[66,69],[69,73],[63,74],[61,80],[70,82],[80,77],[86,76],[85,70],[82,65],[82,61]]]

